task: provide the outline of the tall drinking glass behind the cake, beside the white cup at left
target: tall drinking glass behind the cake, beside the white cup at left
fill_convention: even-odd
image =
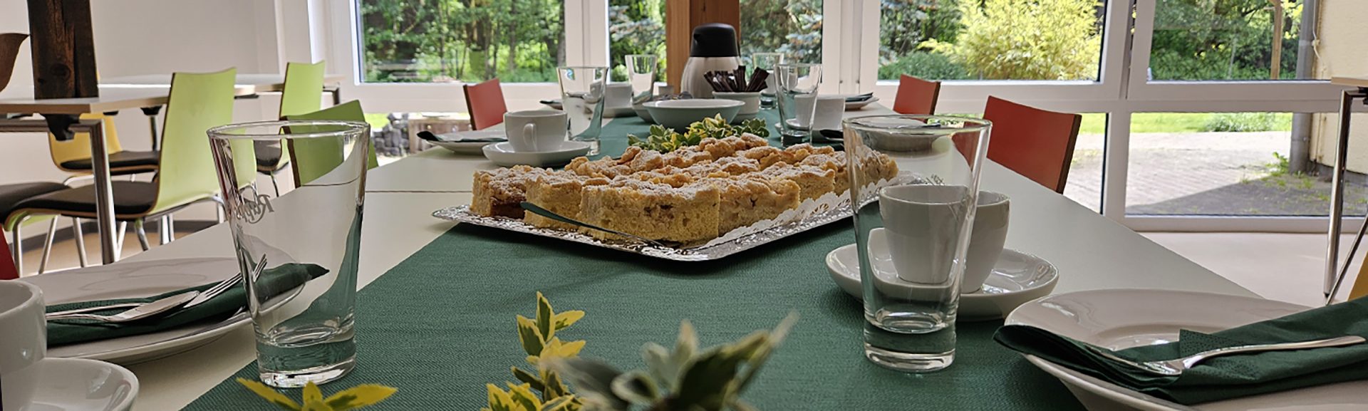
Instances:
[[[570,116],[570,139],[590,143],[588,156],[599,153],[603,131],[603,93],[607,67],[560,67],[561,105]]]

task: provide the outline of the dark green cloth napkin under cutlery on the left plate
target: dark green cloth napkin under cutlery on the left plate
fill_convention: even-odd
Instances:
[[[326,273],[328,273],[327,269],[313,264],[286,264],[276,268],[265,269],[259,280],[261,281],[259,288],[261,291],[261,295],[274,296],[294,289],[295,287],[300,287],[304,283],[317,279],[319,276],[323,276]],[[176,289],[148,298],[124,298],[124,299],[55,304],[55,306],[48,306],[47,311],[55,313],[55,311],[77,310],[77,309],[119,304],[119,303],[146,303],[166,296],[182,294],[186,291],[204,291],[213,287],[215,284],[218,283],[190,287],[185,289]],[[194,307],[172,310],[171,314],[166,317],[157,317],[153,320],[133,321],[123,324],[96,322],[90,320],[48,321],[48,347],[146,335],[146,333],[174,329],[178,326],[183,326],[186,324],[194,324],[207,320],[228,318],[228,315],[237,313],[238,309],[245,307],[246,303],[248,303],[246,288],[239,285],[239,287],[233,287],[228,291],[224,291],[223,294],[219,294],[218,296],[207,302],[202,302]],[[123,310],[129,309],[112,309],[104,311],[94,311],[92,314],[109,315],[122,313]]]

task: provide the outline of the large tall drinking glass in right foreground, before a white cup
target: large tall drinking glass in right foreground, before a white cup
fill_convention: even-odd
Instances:
[[[865,356],[911,373],[955,360],[959,283],[990,123],[948,116],[845,120]]]

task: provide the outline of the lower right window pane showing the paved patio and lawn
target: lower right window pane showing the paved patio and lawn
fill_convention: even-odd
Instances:
[[[1330,182],[1289,171],[1290,113],[1135,113],[1127,214],[1326,216]],[[1346,212],[1368,193],[1350,184]]]

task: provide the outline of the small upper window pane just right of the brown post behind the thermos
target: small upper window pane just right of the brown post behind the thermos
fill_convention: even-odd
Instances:
[[[780,52],[822,63],[822,0],[741,0],[741,56]]]

